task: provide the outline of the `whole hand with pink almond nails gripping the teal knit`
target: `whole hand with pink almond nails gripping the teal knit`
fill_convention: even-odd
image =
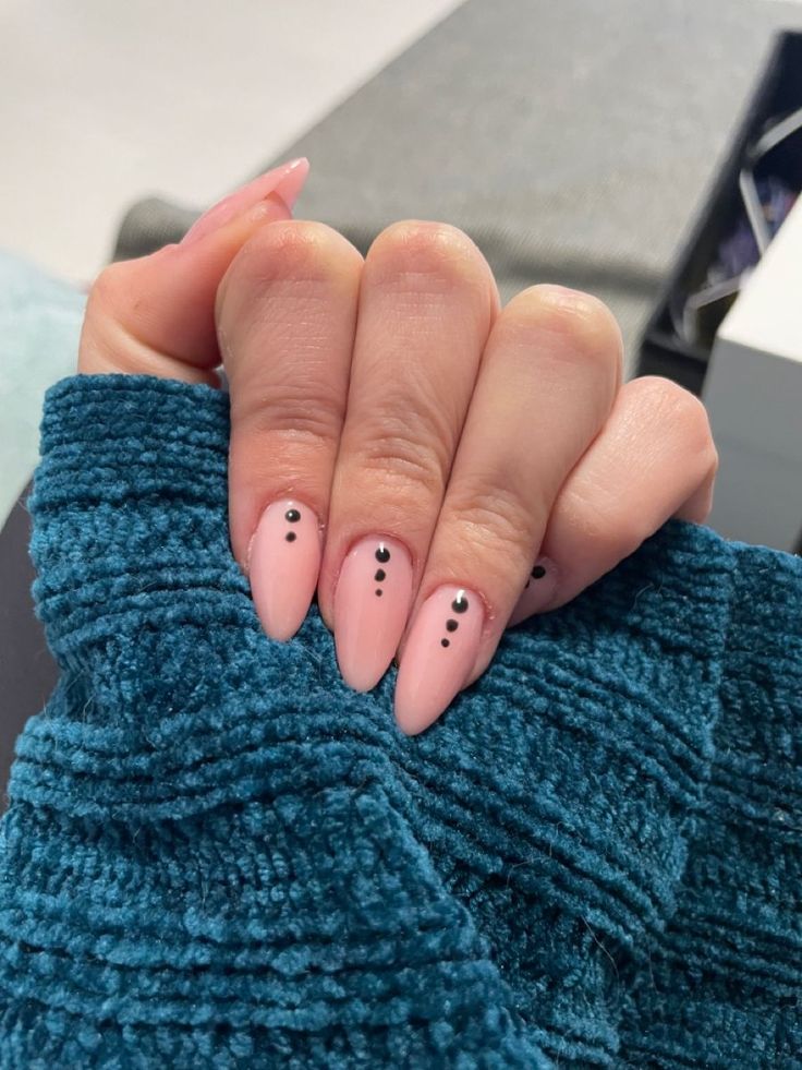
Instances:
[[[97,279],[82,372],[231,392],[233,553],[268,635],[317,588],[342,674],[398,651],[416,733],[488,666],[508,625],[573,599],[669,517],[702,522],[706,411],[656,376],[621,383],[597,299],[532,286],[503,309],[462,231],[406,220],[365,259],[290,218],[308,165],[263,176],[180,245]]]

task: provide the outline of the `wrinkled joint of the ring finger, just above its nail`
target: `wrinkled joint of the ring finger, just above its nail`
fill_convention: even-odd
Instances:
[[[517,493],[500,486],[467,486],[450,494],[449,513],[466,540],[494,556],[498,556],[499,548],[522,557],[532,554],[537,512],[527,508]]]

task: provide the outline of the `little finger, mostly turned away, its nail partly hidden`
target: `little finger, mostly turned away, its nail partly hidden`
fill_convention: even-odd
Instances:
[[[570,602],[670,517],[703,524],[717,469],[707,411],[695,395],[658,375],[625,383],[560,489],[508,626]]]

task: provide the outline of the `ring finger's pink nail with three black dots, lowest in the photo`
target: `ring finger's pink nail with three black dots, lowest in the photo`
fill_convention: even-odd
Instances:
[[[485,611],[474,591],[439,587],[417,612],[396,683],[402,732],[423,732],[463,687],[476,661]]]

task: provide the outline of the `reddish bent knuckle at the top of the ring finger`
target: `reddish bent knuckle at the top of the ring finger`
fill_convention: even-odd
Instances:
[[[560,359],[597,362],[603,370],[620,369],[623,339],[609,308],[592,293],[538,284],[517,293],[500,316],[501,329],[531,345],[544,333],[557,341]]]

